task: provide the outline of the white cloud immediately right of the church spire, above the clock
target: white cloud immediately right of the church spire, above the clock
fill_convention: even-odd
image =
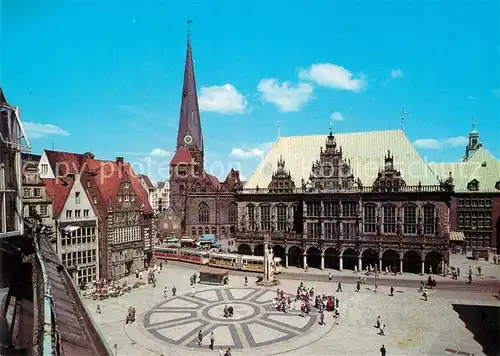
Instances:
[[[202,87],[198,98],[201,111],[221,114],[241,114],[248,102],[231,84]]]

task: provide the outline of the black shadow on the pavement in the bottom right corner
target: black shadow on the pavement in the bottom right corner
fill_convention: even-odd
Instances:
[[[500,307],[453,304],[453,309],[486,355],[500,355]]]

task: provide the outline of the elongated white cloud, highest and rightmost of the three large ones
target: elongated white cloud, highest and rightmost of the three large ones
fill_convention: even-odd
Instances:
[[[353,92],[359,92],[366,86],[366,80],[362,74],[355,76],[344,67],[331,63],[313,64],[308,69],[301,69],[299,78],[314,81],[321,86]]]

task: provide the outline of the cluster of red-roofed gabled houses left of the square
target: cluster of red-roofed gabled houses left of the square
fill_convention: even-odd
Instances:
[[[121,278],[152,257],[148,192],[123,157],[115,161],[45,150],[39,164],[53,195],[57,253],[79,283]],[[78,226],[70,237],[60,229]]]

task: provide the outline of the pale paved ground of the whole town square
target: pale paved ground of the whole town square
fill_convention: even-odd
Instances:
[[[498,305],[491,294],[430,291],[429,301],[415,288],[396,288],[394,297],[387,287],[374,293],[364,285],[360,293],[353,285],[335,293],[336,284],[314,282],[316,293],[335,294],[340,299],[340,318],[326,314],[326,326],[318,315],[302,318],[269,308],[276,289],[245,287],[243,278],[230,276],[229,287],[196,286],[191,295],[189,276],[193,269],[168,265],[158,275],[158,287],[143,286],[124,296],[104,301],[87,300],[87,306],[111,348],[122,355],[217,355],[219,347],[231,347],[233,355],[379,355],[385,344],[389,355],[446,355],[446,349],[483,355],[452,304]],[[134,281],[135,278],[130,278]],[[294,294],[299,281],[283,280],[280,288]],[[165,299],[163,287],[178,289],[177,297]],[[306,286],[307,283],[306,283]],[[97,304],[102,314],[96,314]],[[222,309],[232,304],[233,319],[224,319]],[[129,306],[137,320],[125,325]],[[386,324],[386,335],[377,334],[377,316]],[[196,345],[197,332],[205,335]],[[209,333],[215,336],[215,350],[208,349]]]

